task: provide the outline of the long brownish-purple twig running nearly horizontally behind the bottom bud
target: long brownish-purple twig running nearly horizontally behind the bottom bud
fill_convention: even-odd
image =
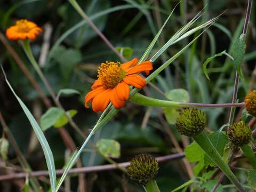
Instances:
[[[180,159],[185,157],[184,153],[178,153],[178,154],[172,154],[172,155],[166,155],[162,157],[156,157],[158,162],[165,162],[175,159]],[[125,163],[118,163],[119,167],[126,167],[129,165],[129,162]],[[109,171],[109,170],[115,170],[117,169],[116,165],[99,165],[99,166],[90,166],[90,167],[81,167],[81,168],[74,168],[69,170],[69,174],[71,173],[90,173],[90,172],[99,172],[99,171]],[[56,170],[56,174],[60,175],[64,171],[63,170]],[[15,174],[7,174],[7,175],[0,175],[0,181],[6,181],[6,180],[12,180],[12,179],[20,179],[25,178],[27,173],[15,173]],[[34,171],[31,172],[31,175],[34,177],[39,176],[47,176],[49,175],[48,171]]]

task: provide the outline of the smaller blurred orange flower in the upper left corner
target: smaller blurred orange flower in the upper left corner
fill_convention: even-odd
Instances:
[[[14,26],[6,29],[6,37],[12,40],[25,40],[29,38],[34,40],[36,36],[42,33],[42,29],[36,25],[36,23],[21,19],[16,21]]]

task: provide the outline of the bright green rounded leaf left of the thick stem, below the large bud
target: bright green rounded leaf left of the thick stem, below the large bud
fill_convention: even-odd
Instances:
[[[195,141],[193,141],[185,149],[185,156],[189,162],[197,162],[204,158],[204,151]]]

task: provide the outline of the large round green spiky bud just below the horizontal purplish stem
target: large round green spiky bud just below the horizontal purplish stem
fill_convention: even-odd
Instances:
[[[196,108],[186,108],[176,119],[176,127],[180,134],[194,137],[201,133],[206,126],[206,114]]]

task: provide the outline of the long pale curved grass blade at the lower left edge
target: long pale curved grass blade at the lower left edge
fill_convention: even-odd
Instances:
[[[35,131],[37,139],[39,140],[39,142],[42,146],[42,149],[44,151],[44,156],[45,156],[45,159],[46,159],[47,168],[48,168],[48,171],[49,171],[51,188],[54,191],[55,190],[55,185],[56,185],[56,172],[55,172],[54,158],[53,158],[52,151],[51,151],[51,148],[49,146],[49,143],[47,142],[47,140],[44,136],[44,133],[41,130],[40,126],[37,124],[36,119],[30,113],[30,111],[28,110],[26,105],[23,103],[23,101],[14,92],[11,84],[7,80],[6,74],[5,74],[4,69],[3,69],[2,66],[1,66],[1,68],[2,68],[2,71],[3,71],[3,74],[4,74],[5,81],[6,81],[7,85],[10,87],[10,89],[11,89],[12,93],[14,94],[15,98],[18,100],[21,108],[23,109],[23,111],[26,114],[31,126],[33,127],[33,129]]]

